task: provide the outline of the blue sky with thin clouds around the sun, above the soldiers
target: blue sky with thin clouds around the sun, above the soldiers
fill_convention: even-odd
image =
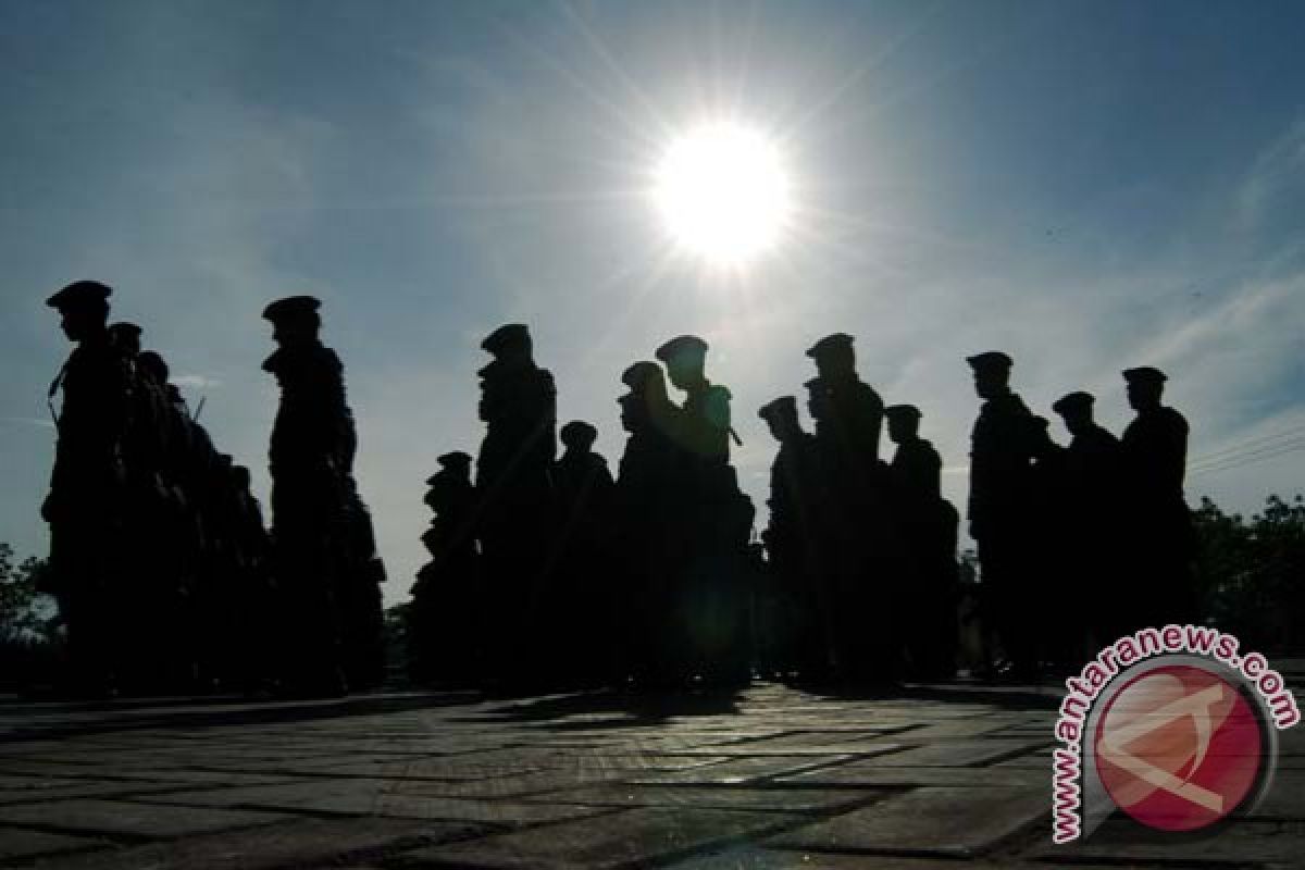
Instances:
[[[1250,511],[1305,489],[1301,44],[1305,8],[1268,1],[4,4],[0,539],[46,547],[68,347],[43,300],[77,278],[116,288],[261,497],[258,313],[324,300],[392,601],[435,457],[479,443],[479,339],[517,320],[613,464],[620,372],[706,337],[758,503],[756,408],[830,331],[921,407],[958,505],[967,353],[1010,352],[1047,416],[1096,393],[1116,430],[1118,370],[1154,364],[1189,500]],[[667,257],[645,193],[719,117],[776,137],[797,202],[729,275]]]

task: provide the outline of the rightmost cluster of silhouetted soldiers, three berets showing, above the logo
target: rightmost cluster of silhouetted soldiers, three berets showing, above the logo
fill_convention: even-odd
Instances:
[[[1090,393],[1057,399],[1052,411],[1071,436],[1061,446],[1011,389],[1010,356],[968,361],[984,399],[970,457],[970,533],[987,623],[1011,673],[1077,665],[1126,633],[1194,621],[1188,423],[1163,404],[1165,374],[1122,372],[1137,416],[1118,438],[1095,421]]]

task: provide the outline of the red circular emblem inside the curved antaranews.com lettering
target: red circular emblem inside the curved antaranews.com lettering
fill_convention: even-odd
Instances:
[[[1105,707],[1094,749],[1116,806],[1161,831],[1225,818],[1263,764],[1251,706],[1227,680],[1194,665],[1164,665],[1129,681]]]

